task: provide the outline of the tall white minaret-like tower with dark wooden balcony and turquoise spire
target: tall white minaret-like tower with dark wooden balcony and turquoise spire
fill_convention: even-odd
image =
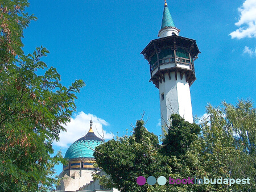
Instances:
[[[160,38],[151,40],[141,52],[150,65],[150,81],[159,89],[161,124],[165,130],[173,113],[193,122],[189,87],[196,80],[194,61],[200,52],[195,40],[181,37],[179,32],[164,1]]]

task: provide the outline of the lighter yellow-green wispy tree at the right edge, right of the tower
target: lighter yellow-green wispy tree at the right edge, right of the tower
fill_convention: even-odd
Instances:
[[[208,190],[255,191],[255,108],[251,101],[236,106],[207,107],[197,152],[207,178],[250,178],[250,185],[208,185]]]

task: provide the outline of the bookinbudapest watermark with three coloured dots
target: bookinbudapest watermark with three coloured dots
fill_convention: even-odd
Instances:
[[[157,182],[159,185],[166,185],[166,182],[167,182],[167,179],[166,177],[164,176],[160,176],[158,177],[157,179]],[[146,178],[144,178],[143,176],[139,176],[137,178],[137,183],[138,185],[144,185],[146,183]],[[156,178],[153,177],[153,176],[150,176],[147,178],[147,184],[148,185],[155,185],[156,183]],[[203,179],[202,178],[196,178],[196,177],[188,177],[188,178],[171,178],[169,177],[169,184],[171,185],[174,185],[174,184],[184,184],[184,185],[193,185],[193,184],[198,184],[198,185],[207,185],[207,184],[225,184],[225,185],[234,185],[234,184],[250,184],[250,178],[243,178],[243,179],[240,179],[240,178],[237,178],[236,180],[233,179],[233,178],[206,178],[204,177]]]

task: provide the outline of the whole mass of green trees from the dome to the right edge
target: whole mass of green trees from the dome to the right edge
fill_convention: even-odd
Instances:
[[[255,191],[255,121],[251,101],[236,106],[207,107],[200,127],[171,115],[171,126],[163,144],[138,120],[131,136],[118,137],[96,148],[98,166],[108,176],[94,176],[101,185],[120,191]],[[145,178],[250,178],[250,184],[139,186]],[[168,179],[167,179],[168,182]]]

